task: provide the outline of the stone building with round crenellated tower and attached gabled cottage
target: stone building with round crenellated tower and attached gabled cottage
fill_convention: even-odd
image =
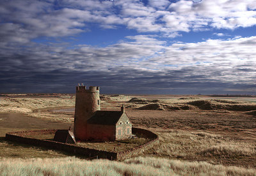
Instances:
[[[132,124],[121,111],[100,111],[99,86],[76,86],[74,135],[77,140],[114,141],[129,138]]]

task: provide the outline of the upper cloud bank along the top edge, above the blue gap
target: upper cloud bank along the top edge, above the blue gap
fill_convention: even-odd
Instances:
[[[15,9],[15,11],[13,11]],[[22,28],[17,37],[68,36],[90,29],[89,22],[102,28],[118,25],[138,32],[175,36],[180,31],[205,31],[211,28],[236,29],[256,24],[254,0],[148,1],[6,1],[0,17],[4,23]],[[1,27],[0,27],[1,28]],[[24,31],[28,31],[26,34]],[[177,35],[178,36],[178,35]]]

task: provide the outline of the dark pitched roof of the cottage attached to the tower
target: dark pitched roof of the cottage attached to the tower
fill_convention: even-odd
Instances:
[[[88,124],[115,125],[122,116],[122,111],[96,111],[87,120]]]

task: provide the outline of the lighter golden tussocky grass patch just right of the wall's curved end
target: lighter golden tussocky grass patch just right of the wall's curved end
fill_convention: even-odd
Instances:
[[[159,131],[160,145],[156,154],[168,157],[256,156],[254,143],[235,141],[208,132]]]

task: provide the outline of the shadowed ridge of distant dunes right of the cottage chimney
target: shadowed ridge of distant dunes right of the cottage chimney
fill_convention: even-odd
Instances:
[[[225,99],[200,99],[200,98],[175,98],[175,99],[136,99],[133,98],[126,103],[127,108],[142,110],[231,110],[231,111],[253,111],[256,110],[254,102]]]

